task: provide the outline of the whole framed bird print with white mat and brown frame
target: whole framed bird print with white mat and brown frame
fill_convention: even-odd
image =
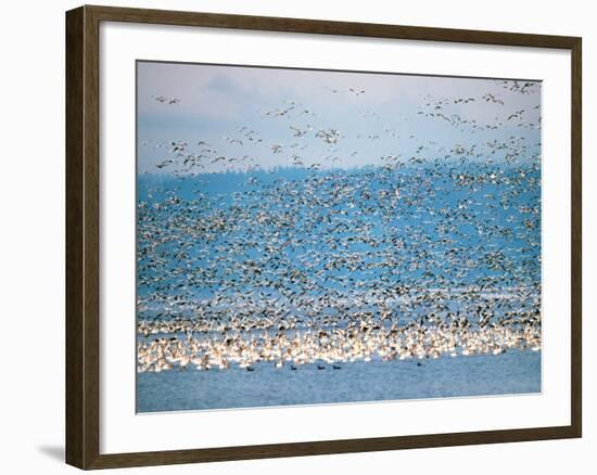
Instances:
[[[581,39],[66,14],[66,459],[580,437]]]

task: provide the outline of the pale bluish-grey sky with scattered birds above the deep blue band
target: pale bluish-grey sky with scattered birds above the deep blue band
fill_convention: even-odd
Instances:
[[[389,156],[446,159],[458,147],[485,159],[508,141],[501,155],[539,152],[541,82],[161,62],[137,68],[140,174],[353,168]]]

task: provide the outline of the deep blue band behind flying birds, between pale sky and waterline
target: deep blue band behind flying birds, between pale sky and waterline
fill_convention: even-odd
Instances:
[[[465,170],[444,164],[141,176],[138,294],[156,298],[140,307],[139,318],[191,316],[183,304],[247,292],[537,286],[538,168]],[[247,272],[254,264],[259,274]],[[166,295],[179,298],[166,301]]]

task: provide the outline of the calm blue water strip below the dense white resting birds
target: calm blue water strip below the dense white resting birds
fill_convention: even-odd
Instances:
[[[418,363],[420,365],[418,365]],[[209,371],[141,373],[138,412],[321,405],[539,393],[541,351],[436,360],[352,362],[340,370],[259,364]]]

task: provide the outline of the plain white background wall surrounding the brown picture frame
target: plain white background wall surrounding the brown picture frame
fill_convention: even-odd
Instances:
[[[589,164],[597,100],[597,15],[589,1],[149,1],[120,7],[296,16],[583,37],[584,438],[497,446],[227,462],[123,473],[298,474],[595,473],[597,352],[588,343],[595,299],[589,268],[597,230]],[[3,473],[66,473],[64,452],[64,11],[76,1],[4,2],[0,18],[0,466]],[[592,127],[593,126],[593,127]],[[592,301],[593,300],[593,301]]]

